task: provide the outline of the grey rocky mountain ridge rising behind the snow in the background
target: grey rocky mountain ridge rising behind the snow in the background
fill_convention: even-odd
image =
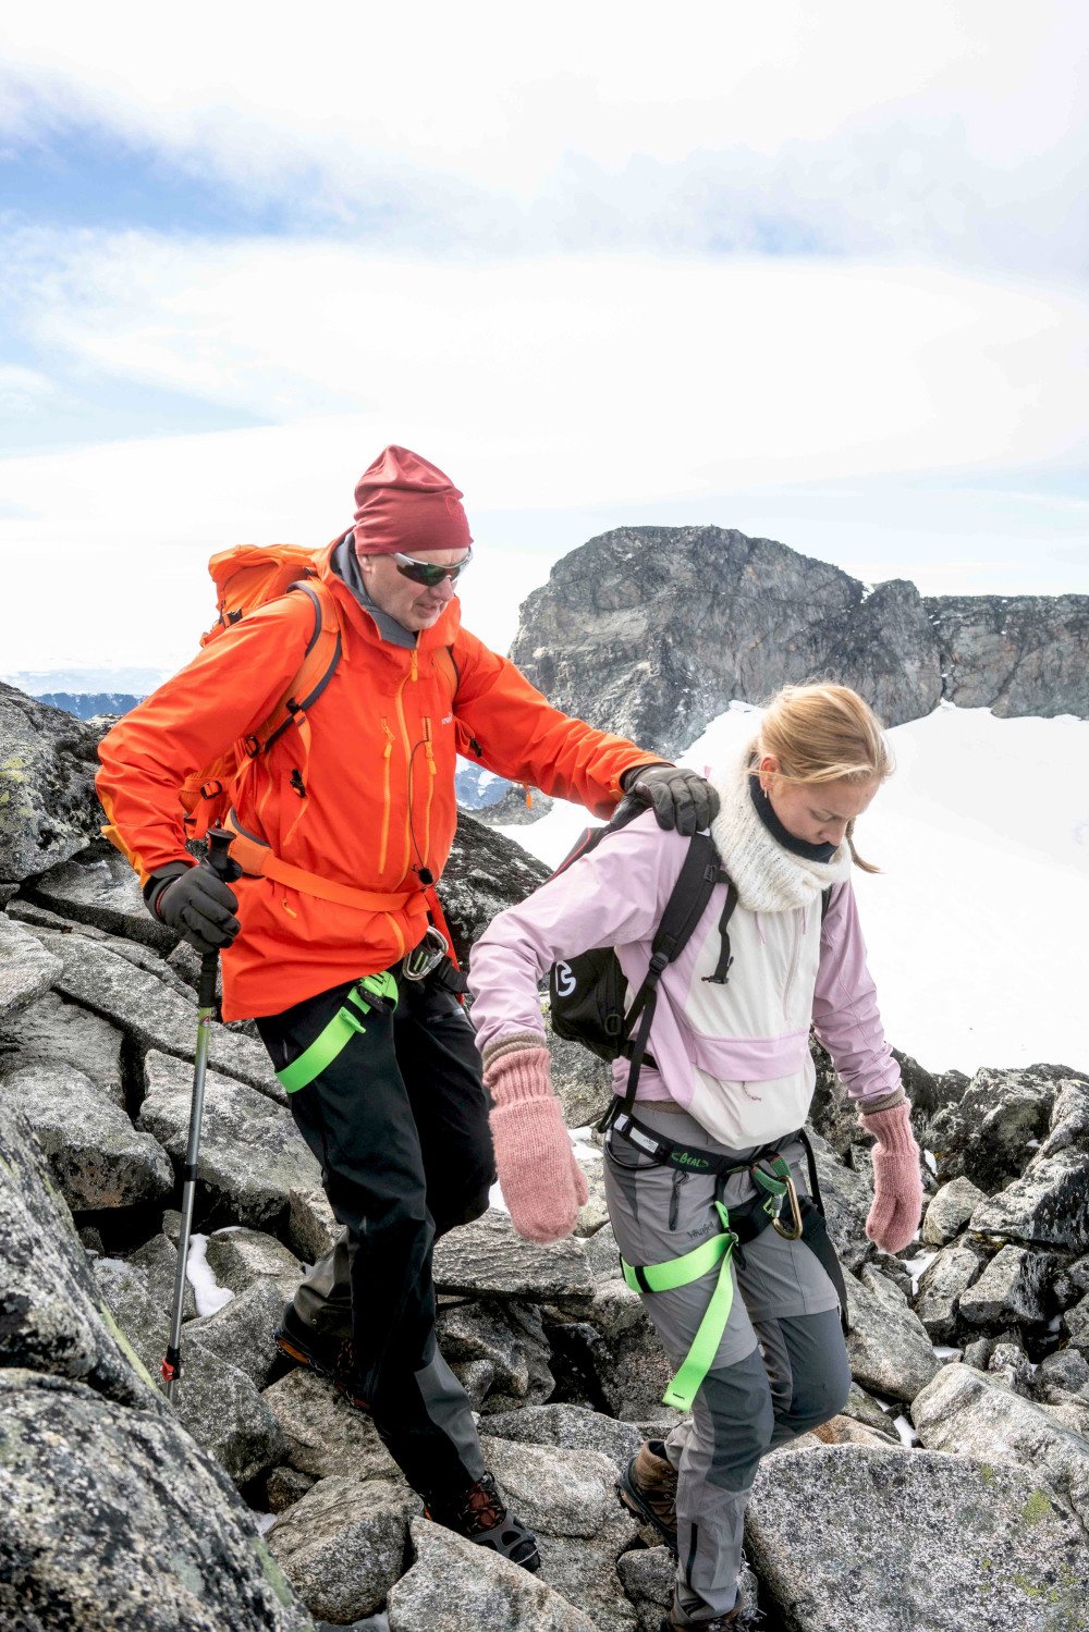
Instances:
[[[557,708],[668,756],[731,698],[823,677],[854,685],[890,726],[942,698],[1089,716],[1089,596],[869,589],[722,527],[591,539],[524,601],[511,656]]]

